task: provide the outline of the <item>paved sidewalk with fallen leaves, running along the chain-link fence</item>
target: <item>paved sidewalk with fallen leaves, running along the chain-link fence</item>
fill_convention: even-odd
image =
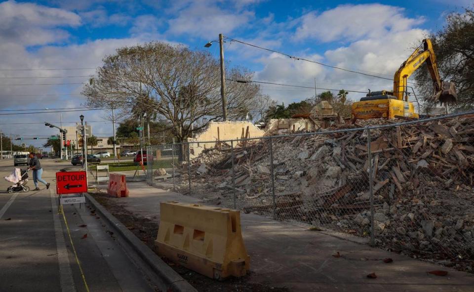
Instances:
[[[159,203],[198,199],[130,182],[129,198],[115,199],[138,217],[159,221]],[[250,255],[249,281],[289,291],[474,291],[474,275],[410,257],[370,248],[297,224],[241,213],[242,233]],[[358,238],[355,240],[360,241]],[[332,256],[339,252],[341,257]],[[384,263],[390,257],[393,263]],[[445,270],[445,277],[428,271]],[[376,273],[377,279],[367,274]]]

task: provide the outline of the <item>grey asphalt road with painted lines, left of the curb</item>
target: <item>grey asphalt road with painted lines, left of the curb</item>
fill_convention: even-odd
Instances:
[[[13,161],[0,161],[0,291],[86,291],[78,261],[90,291],[155,291],[102,218],[70,205],[64,213],[76,259],[63,216],[57,214],[53,180],[57,170],[70,164],[43,159],[41,165],[49,190],[40,185],[40,191],[8,194],[10,183],[3,177],[13,170]],[[34,188],[32,179],[28,185]]]

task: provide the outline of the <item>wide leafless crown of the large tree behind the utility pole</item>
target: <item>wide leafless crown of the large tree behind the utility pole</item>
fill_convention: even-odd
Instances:
[[[138,105],[169,121],[179,141],[210,121],[222,120],[219,62],[207,52],[151,42],[119,48],[103,61],[97,76],[83,88],[88,106],[114,104],[132,115]],[[253,74],[233,68],[226,77],[248,81]],[[259,85],[251,83],[230,82],[226,90],[230,119],[248,113],[260,94]],[[204,117],[206,122],[197,126]]]

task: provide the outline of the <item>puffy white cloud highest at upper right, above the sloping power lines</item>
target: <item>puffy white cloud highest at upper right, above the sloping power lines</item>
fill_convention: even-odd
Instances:
[[[408,30],[424,21],[422,17],[405,17],[403,10],[382,4],[360,4],[340,5],[320,14],[312,11],[301,17],[295,39],[332,42],[380,38]]]

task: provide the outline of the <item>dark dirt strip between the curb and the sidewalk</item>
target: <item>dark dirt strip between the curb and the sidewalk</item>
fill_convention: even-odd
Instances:
[[[145,243],[151,250],[158,254],[155,247],[155,239],[158,234],[158,223],[148,218],[137,217],[132,212],[120,206],[110,197],[102,193],[90,193],[94,199],[112,213],[128,230]],[[225,281],[216,281],[189,270],[179,264],[174,264],[167,258],[162,258],[173,270],[189,282],[197,291],[200,292],[286,292],[286,288],[276,288],[271,285],[250,283],[250,278],[255,274],[249,272],[248,275],[241,278],[229,278]]]

